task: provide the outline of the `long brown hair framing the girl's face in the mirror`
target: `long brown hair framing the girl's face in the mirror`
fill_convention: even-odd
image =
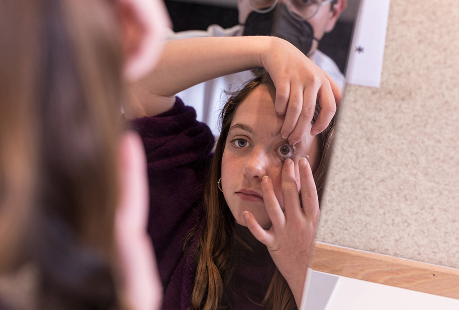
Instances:
[[[221,177],[222,156],[225,148],[228,131],[239,105],[251,92],[265,85],[274,89],[269,74],[256,71],[256,77],[247,83],[239,92],[230,97],[222,110],[222,130],[215,148],[212,166],[209,172],[204,191],[204,208],[207,215],[206,226],[201,235],[195,252],[197,261],[197,274],[192,295],[192,309],[217,309],[223,296],[223,278],[227,269],[229,258],[229,245],[233,239],[234,217],[226,203],[223,193],[218,190],[217,183]],[[319,104],[313,122],[320,112]],[[314,171],[314,180],[319,195],[322,197],[325,185],[331,141],[334,133],[334,119],[330,125],[319,135],[319,164]],[[228,275],[226,275],[228,277]],[[297,305],[292,291],[280,271],[276,268],[263,300],[268,309],[296,309]]]

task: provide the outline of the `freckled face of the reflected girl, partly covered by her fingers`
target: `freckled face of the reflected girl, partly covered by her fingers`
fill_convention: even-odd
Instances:
[[[222,158],[222,189],[226,202],[236,219],[245,225],[243,212],[250,211],[263,228],[269,228],[271,221],[266,213],[261,178],[272,180],[274,192],[284,210],[281,189],[281,170],[284,161],[295,162],[298,191],[300,176],[298,161],[309,155],[315,170],[318,158],[317,138],[309,134],[295,146],[280,134],[284,116],[274,111],[276,94],[265,86],[259,86],[237,108],[226,138]]]

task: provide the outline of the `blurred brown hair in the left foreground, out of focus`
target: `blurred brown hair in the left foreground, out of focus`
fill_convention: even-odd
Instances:
[[[8,44],[0,47],[0,104],[11,120],[0,130],[0,214],[14,209],[27,230],[15,231],[14,243],[0,235],[0,261],[13,253],[2,246],[23,245],[10,256],[38,267],[38,308],[119,307],[113,224],[123,85],[115,6],[16,0],[1,11]],[[4,139],[12,132],[17,145]],[[27,181],[23,196],[17,179]]]

